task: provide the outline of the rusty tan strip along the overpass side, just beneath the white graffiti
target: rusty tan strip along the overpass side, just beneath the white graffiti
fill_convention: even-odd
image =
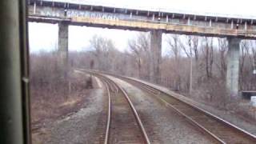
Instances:
[[[242,37],[256,37],[256,30],[236,30],[231,28],[221,28],[212,26],[194,26],[174,22],[163,22],[155,21],[150,19],[139,19],[139,18],[94,18],[88,16],[50,16],[42,14],[30,14],[31,17],[42,17],[42,18],[60,18],[70,22],[86,22],[91,24],[102,24],[110,26],[130,26],[141,29],[155,29],[155,30],[166,30],[166,31],[178,31],[185,33],[195,34],[210,34],[216,36],[242,36]]]

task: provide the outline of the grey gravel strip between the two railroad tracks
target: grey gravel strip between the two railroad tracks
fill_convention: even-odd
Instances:
[[[109,76],[122,85],[130,96],[152,143],[212,143],[174,110],[118,78]]]

